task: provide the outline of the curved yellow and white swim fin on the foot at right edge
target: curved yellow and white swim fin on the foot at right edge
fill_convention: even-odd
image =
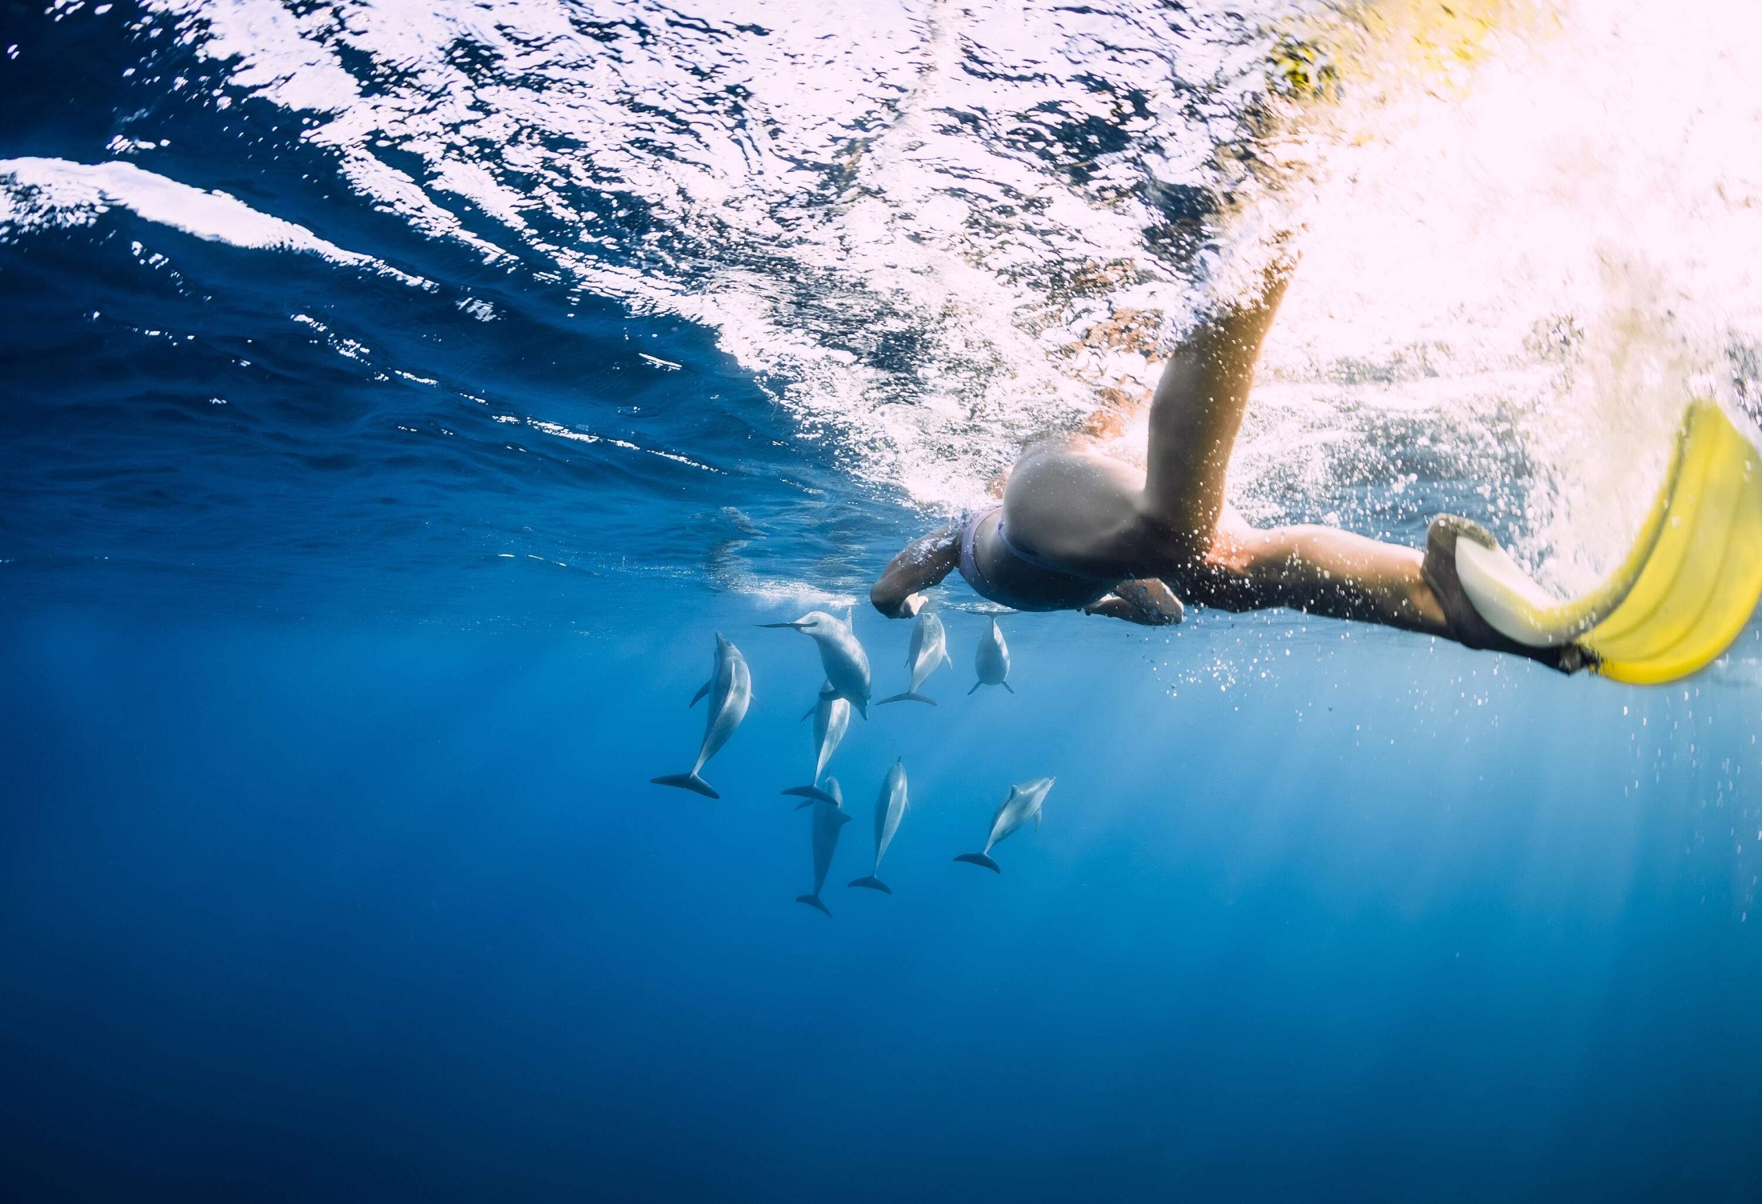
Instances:
[[[1716,404],[1692,402],[1639,538],[1595,591],[1554,598],[1491,536],[1457,539],[1455,571],[1508,640],[1577,643],[1619,682],[1688,677],[1737,638],[1762,598],[1762,457]]]

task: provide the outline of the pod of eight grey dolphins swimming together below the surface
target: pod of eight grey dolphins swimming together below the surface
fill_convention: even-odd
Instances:
[[[819,650],[819,666],[825,682],[819,687],[818,702],[802,716],[803,721],[809,716],[814,717],[814,779],[805,786],[791,786],[782,793],[802,799],[796,804],[798,811],[812,807],[814,892],[796,896],[796,903],[805,903],[830,917],[832,910],[819,894],[826,885],[826,874],[832,871],[832,853],[839,844],[839,832],[849,823],[851,816],[844,809],[844,790],[839,786],[839,779],[826,774],[826,762],[832,760],[832,753],[851,726],[851,710],[856,710],[863,719],[869,717],[869,654],[863,652],[863,645],[856,640],[855,631],[851,631],[849,612],[846,612],[844,619],[839,619],[825,610],[811,610],[795,622],[761,622],[759,626],[793,628],[814,640]],[[934,612],[923,610],[913,626],[911,650],[906,654],[911,684],[899,695],[877,700],[876,705],[923,702],[934,707],[936,700],[923,693],[923,684],[944,663],[953,665],[948,656],[948,631]],[[985,636],[980,640],[973,668],[978,680],[973,682],[973,689],[967,691],[969,695],[980,686],[1003,686],[1010,693],[1015,693],[1008,680],[1010,645],[1004,643],[1003,629],[996,619],[990,621]],[[678,786],[708,799],[721,799],[710,783],[703,779],[703,767],[728,744],[728,737],[735,733],[735,728],[740,726],[740,721],[747,716],[747,709],[752,705],[752,672],[747,668],[747,658],[721,631],[715,633],[715,659],[710,666],[710,680],[698,687],[698,693],[691,698],[691,705],[696,707],[705,698],[710,700],[710,705],[703,725],[703,742],[698,746],[698,760],[685,774],[664,774],[650,781],[657,786]],[[962,853],[955,860],[983,866],[992,873],[1003,873],[997,862],[990,858],[992,848],[1029,821],[1034,823],[1036,830],[1040,829],[1040,809],[1047,800],[1047,792],[1052,790],[1052,777],[1034,777],[1033,781],[1011,786],[1004,800],[997,804],[990,832],[985,837],[985,848],[978,853]],[[849,883],[851,887],[893,894],[893,888],[881,881],[881,858],[886,857],[888,844],[893,843],[900,820],[906,818],[909,807],[911,797],[906,783],[906,763],[904,760],[897,760],[881,781],[881,795],[876,799],[874,864],[867,874],[855,878]]]

